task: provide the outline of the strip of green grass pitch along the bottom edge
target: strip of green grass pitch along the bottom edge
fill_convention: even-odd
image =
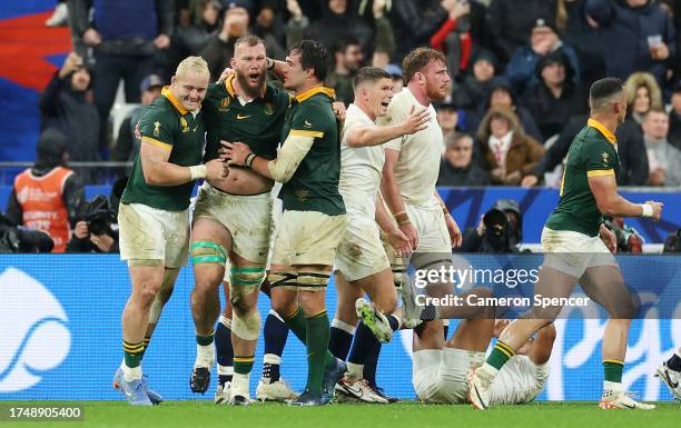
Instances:
[[[55,406],[57,402],[22,401],[6,405]],[[61,404],[61,402],[60,402]],[[0,427],[56,428],[475,428],[475,427],[678,427],[681,405],[662,402],[655,410],[601,410],[595,402],[536,402],[496,407],[487,411],[470,406],[425,406],[401,402],[389,406],[334,405],[294,408],[267,404],[251,407],[215,406],[211,401],[167,401],[158,407],[130,407],[124,401],[63,402],[83,405],[85,420],[36,422],[0,421]]]

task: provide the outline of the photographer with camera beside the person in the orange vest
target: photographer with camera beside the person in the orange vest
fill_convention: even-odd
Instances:
[[[117,180],[109,198],[98,195],[80,207],[67,252],[118,252],[118,202],[127,180]]]

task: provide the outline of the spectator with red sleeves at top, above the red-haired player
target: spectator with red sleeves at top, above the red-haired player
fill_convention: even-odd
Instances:
[[[471,3],[466,1],[454,1],[447,10],[447,19],[442,27],[431,37],[431,47],[442,51],[447,59],[447,70],[452,79],[457,80],[465,72],[471,51],[473,38],[470,31]],[[460,22],[461,19],[461,22]]]

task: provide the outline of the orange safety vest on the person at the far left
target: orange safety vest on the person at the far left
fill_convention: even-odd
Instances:
[[[68,168],[57,167],[42,177],[36,177],[27,169],[14,179],[23,226],[49,233],[55,241],[52,252],[65,252],[71,235],[63,186],[72,173]]]

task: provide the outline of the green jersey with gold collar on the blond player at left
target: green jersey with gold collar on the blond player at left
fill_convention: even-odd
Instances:
[[[201,163],[206,128],[203,113],[187,111],[168,87],[154,100],[139,120],[142,142],[170,151],[168,162],[180,167]],[[140,153],[137,153],[122,203],[142,203],[168,211],[189,207],[194,181],[179,186],[151,186],[145,180]]]

